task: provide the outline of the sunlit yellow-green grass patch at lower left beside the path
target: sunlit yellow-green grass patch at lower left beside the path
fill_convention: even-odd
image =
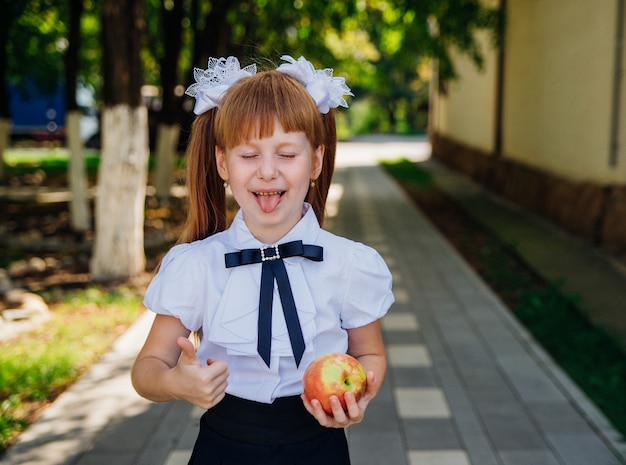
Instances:
[[[52,290],[45,299],[52,319],[0,344],[0,456],[143,311],[140,294],[123,287]]]

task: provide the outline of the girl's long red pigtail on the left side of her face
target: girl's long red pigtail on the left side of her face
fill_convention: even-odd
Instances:
[[[198,117],[187,147],[189,210],[179,242],[204,239],[226,229],[226,193],[215,161],[216,109]]]

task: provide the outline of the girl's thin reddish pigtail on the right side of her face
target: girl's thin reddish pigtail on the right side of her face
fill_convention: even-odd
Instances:
[[[337,151],[335,110],[331,109],[328,113],[321,116],[324,123],[324,159],[322,162],[322,172],[317,180],[315,180],[315,186],[309,188],[306,199],[307,202],[311,204],[320,226],[324,223],[326,199],[335,171],[335,153]]]

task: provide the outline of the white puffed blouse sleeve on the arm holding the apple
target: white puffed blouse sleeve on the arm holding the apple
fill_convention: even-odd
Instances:
[[[345,329],[382,318],[394,302],[391,272],[380,254],[357,243],[341,313]]]

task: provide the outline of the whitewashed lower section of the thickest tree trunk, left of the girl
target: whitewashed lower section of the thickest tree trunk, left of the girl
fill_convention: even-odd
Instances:
[[[148,172],[148,111],[116,105],[102,114],[102,159],[96,196],[94,281],[126,279],[144,271],[144,204]]]

